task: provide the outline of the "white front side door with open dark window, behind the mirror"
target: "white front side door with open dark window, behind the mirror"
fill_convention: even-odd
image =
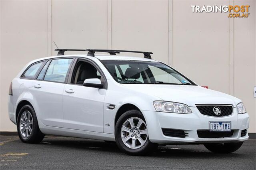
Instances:
[[[92,61],[78,59],[74,65],[70,83],[63,92],[64,127],[103,132],[103,107],[106,94],[106,79],[100,68]],[[104,83],[101,89],[85,87],[85,79],[98,78]]]

